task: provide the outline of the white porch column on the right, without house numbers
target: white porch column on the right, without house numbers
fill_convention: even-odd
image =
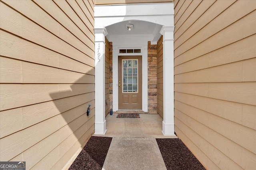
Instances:
[[[174,26],[163,26],[164,120],[162,133],[174,135]]]

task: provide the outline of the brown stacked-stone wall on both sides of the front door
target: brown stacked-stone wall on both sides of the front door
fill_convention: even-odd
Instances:
[[[112,42],[109,43],[109,109],[113,109]],[[157,114],[157,45],[148,42],[148,113]]]

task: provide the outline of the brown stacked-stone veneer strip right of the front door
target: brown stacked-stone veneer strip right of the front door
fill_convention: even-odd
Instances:
[[[157,114],[157,45],[148,41],[148,113]]]

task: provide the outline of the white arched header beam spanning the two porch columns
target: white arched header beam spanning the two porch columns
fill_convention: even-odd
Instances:
[[[94,27],[103,28],[127,20],[174,26],[173,3],[118,4],[94,6]]]

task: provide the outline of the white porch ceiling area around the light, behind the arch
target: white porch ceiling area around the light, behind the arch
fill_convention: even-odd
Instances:
[[[133,29],[128,31],[126,24],[133,24]],[[122,21],[106,27],[108,31],[107,38],[113,35],[152,35],[152,41],[158,40],[161,28],[162,25],[138,20]]]

